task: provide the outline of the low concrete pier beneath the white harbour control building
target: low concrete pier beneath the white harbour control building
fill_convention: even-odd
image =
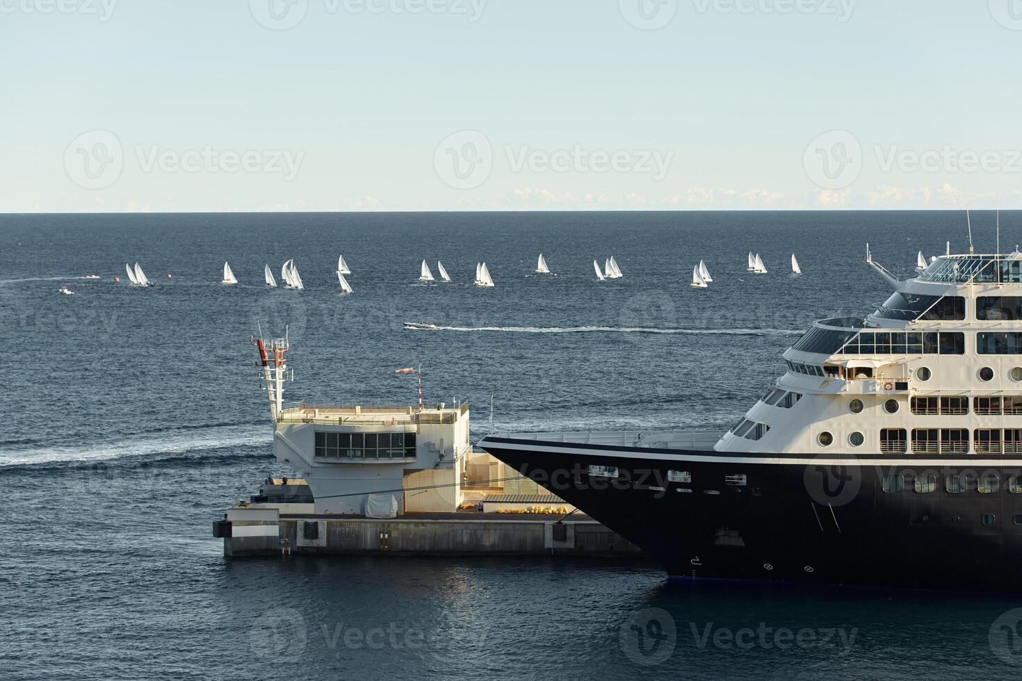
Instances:
[[[231,508],[214,524],[224,555],[418,554],[644,557],[635,544],[586,517],[406,514],[367,519]]]

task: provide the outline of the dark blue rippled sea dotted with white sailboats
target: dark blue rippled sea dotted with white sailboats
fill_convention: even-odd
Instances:
[[[1001,218],[1007,251],[1022,214]],[[992,250],[993,214],[972,223]],[[421,364],[426,401],[467,399],[476,437],[491,395],[497,431],[723,430],[814,319],[887,297],[867,242],[909,276],[948,239],[967,248],[964,213],[0,216],[0,678],[1017,679],[1018,595],[689,584],[645,563],[232,562],[211,536],[289,473],[257,325],[287,328],[287,400],[411,402],[392,372]],[[746,273],[750,250],[770,274]],[[555,276],[531,274],[541,251]],[[610,255],[624,276],[598,283]],[[264,286],[287,258],[305,291]],[[419,285],[423,258],[454,283]],[[700,259],[708,290],[689,286]],[[471,285],[483,260],[493,289]],[[135,261],[156,287],[112,281]]]

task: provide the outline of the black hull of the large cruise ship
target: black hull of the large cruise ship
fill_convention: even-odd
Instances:
[[[1022,590],[1019,455],[837,460],[501,437],[481,446],[672,576]]]

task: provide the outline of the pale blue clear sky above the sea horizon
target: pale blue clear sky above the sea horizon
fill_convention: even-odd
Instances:
[[[1022,207],[1020,0],[0,0],[0,211]]]

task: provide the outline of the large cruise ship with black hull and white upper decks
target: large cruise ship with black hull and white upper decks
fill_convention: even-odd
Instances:
[[[1022,253],[948,253],[817,322],[728,432],[480,445],[671,576],[1018,591]]]

